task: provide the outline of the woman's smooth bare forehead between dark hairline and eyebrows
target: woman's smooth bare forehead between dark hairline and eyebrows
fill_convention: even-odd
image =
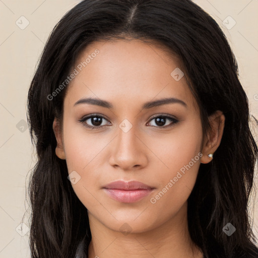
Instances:
[[[124,105],[174,97],[197,107],[180,60],[161,45],[135,39],[96,41],[80,53],[74,69],[77,75],[66,94],[71,105],[82,97],[112,103],[123,99]]]

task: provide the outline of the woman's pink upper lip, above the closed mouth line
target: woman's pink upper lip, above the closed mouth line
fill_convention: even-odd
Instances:
[[[154,187],[151,187],[139,181],[125,182],[123,180],[117,180],[117,181],[111,182],[105,185],[103,188],[120,189],[120,190],[154,189]]]

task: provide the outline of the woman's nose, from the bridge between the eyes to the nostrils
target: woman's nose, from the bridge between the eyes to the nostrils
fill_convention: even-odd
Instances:
[[[124,171],[141,169],[148,164],[147,153],[148,147],[143,139],[137,136],[135,126],[126,133],[118,128],[109,164]]]

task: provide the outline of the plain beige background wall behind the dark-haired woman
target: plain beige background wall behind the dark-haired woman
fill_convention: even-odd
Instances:
[[[258,119],[258,1],[193,2],[212,15],[225,32],[238,61],[240,81],[249,98],[251,112]],[[22,216],[28,208],[25,202],[26,175],[35,162],[25,122],[26,98],[38,57],[50,31],[77,3],[79,1],[75,0],[0,0],[0,258],[30,257],[26,226],[20,230]],[[26,25],[25,18],[21,16],[29,22],[23,30],[16,24],[17,21],[19,26]],[[253,130],[258,139],[258,130]],[[257,174],[255,178],[257,181]],[[250,207],[256,204],[253,228],[258,237],[258,198],[252,200]]]

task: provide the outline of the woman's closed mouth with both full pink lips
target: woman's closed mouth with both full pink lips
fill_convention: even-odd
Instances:
[[[134,203],[150,195],[155,187],[139,181],[118,180],[104,186],[103,189],[110,198],[117,202]]]

